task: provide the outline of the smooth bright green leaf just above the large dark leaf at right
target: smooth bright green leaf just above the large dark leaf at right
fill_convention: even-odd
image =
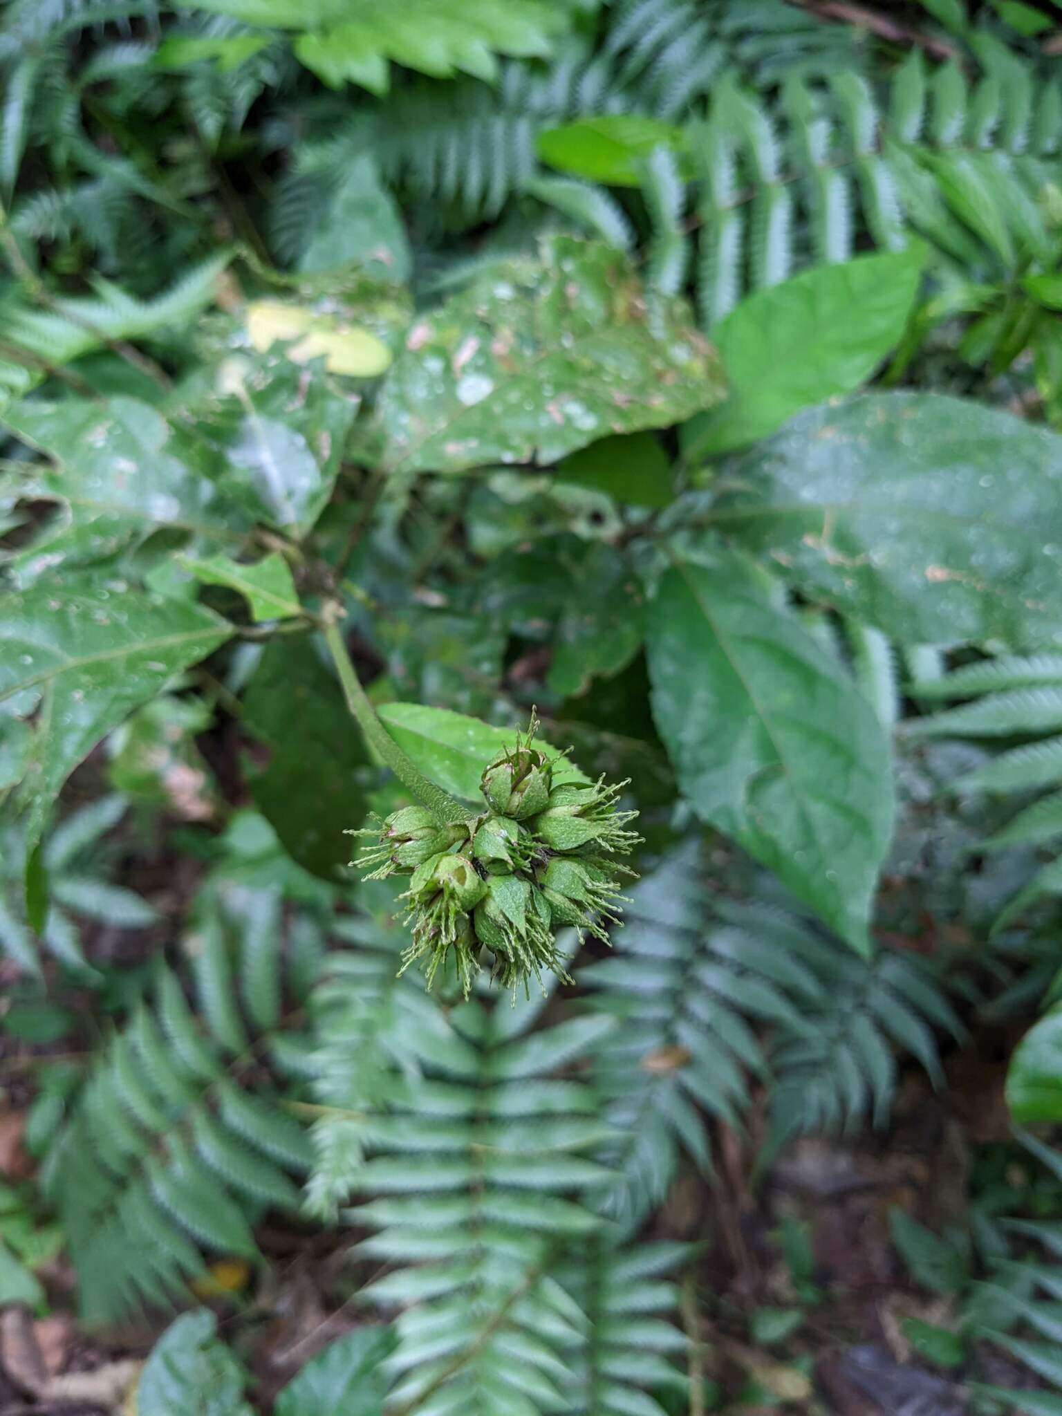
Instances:
[[[814,266],[742,300],[712,330],[728,398],[685,425],[684,453],[743,447],[801,408],[865,384],[903,334],[925,253],[916,244]]]

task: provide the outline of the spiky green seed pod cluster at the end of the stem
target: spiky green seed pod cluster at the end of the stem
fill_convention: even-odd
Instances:
[[[480,967],[506,988],[527,990],[542,970],[561,977],[556,930],[572,927],[607,943],[623,903],[616,862],[640,837],[636,811],[616,807],[620,789],[605,780],[554,784],[551,758],[534,746],[535,719],[515,746],[487,763],[486,809],[442,826],[423,807],[404,807],[374,830],[357,865],[367,879],[409,875],[402,895],[412,943],[402,969],[423,967],[430,988],[453,957],[467,997]]]

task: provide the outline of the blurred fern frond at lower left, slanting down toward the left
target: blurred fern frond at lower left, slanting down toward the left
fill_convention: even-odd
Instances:
[[[252,1223],[296,1212],[309,1134],[285,1106],[297,1090],[303,970],[279,892],[207,886],[185,939],[190,1001],[159,970],[150,1001],[99,1054],[45,1165],[78,1270],[86,1321],[187,1297],[204,1250],[253,1262]],[[287,936],[287,937],[286,937]],[[316,942],[309,940],[312,950]]]

